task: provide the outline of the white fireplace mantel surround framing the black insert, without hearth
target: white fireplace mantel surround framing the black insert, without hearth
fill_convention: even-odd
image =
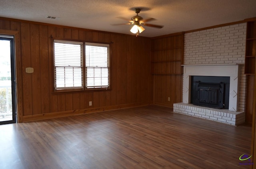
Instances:
[[[239,64],[207,64],[182,65],[183,74],[183,103],[190,103],[190,76],[222,76],[230,77],[229,108],[237,111],[238,108],[238,65]]]

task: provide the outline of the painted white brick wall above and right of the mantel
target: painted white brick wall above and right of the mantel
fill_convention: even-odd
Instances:
[[[244,55],[246,23],[185,33],[184,65],[231,64],[240,65],[238,111],[245,111],[246,76]]]

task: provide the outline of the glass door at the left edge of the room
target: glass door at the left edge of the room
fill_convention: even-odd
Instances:
[[[13,36],[0,35],[0,124],[16,123]]]

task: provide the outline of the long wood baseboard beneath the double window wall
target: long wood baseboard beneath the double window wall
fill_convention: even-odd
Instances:
[[[149,104],[153,104],[153,102],[128,103],[128,104],[119,104],[119,105],[113,105],[113,106],[69,110],[69,111],[63,111],[63,112],[35,114],[35,115],[23,116],[22,122],[30,122],[30,121],[44,120],[44,119],[50,119],[50,118],[59,118],[59,117],[66,117],[66,116],[74,116],[74,115],[102,112],[102,111],[106,111],[106,110],[115,110],[115,109],[121,109],[121,108],[145,106],[145,105],[149,105]]]

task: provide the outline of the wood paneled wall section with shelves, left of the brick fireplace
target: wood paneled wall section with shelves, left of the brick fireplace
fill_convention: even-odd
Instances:
[[[154,104],[173,107],[182,102],[184,33],[152,38],[151,46]]]

